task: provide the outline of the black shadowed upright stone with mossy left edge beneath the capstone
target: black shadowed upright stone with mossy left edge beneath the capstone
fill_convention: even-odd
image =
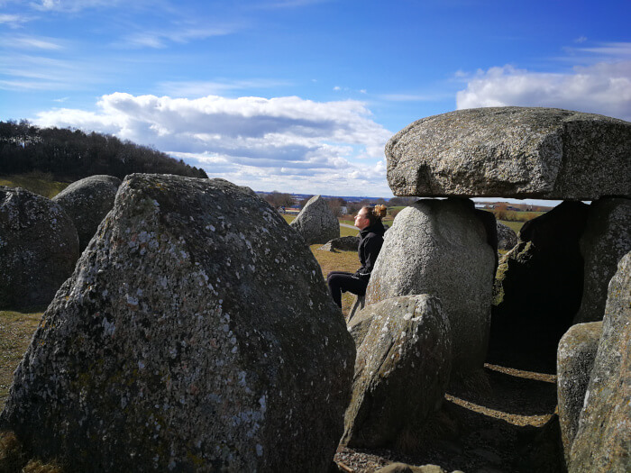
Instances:
[[[493,295],[491,352],[521,353],[522,359],[542,361],[539,369],[554,370],[558,342],[581,305],[583,259],[579,240],[588,207],[566,201],[526,222],[517,245],[500,259]]]

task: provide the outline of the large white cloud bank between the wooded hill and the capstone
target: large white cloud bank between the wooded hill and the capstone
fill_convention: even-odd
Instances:
[[[151,144],[257,190],[389,195],[383,149],[392,133],[358,101],[114,93],[97,109],[54,109],[34,123]]]

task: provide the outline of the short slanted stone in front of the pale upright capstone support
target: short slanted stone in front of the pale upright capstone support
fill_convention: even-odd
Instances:
[[[437,410],[451,371],[449,321],[434,296],[365,307],[372,323],[357,349],[342,443],[380,447]]]

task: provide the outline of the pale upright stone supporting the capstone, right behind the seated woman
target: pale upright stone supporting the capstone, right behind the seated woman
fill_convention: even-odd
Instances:
[[[496,252],[471,201],[423,199],[386,233],[366,304],[396,296],[438,296],[453,336],[453,369],[481,368],[486,355]]]

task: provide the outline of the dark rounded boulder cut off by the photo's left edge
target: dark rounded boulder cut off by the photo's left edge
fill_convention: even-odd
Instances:
[[[75,225],[58,204],[0,186],[0,309],[48,305],[78,254]]]

